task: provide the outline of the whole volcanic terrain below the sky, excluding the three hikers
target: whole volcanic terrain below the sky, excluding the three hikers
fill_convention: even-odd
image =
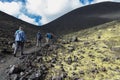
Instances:
[[[0,12],[0,79],[120,80],[119,13],[119,3],[103,2],[78,8],[39,28]],[[32,48],[23,56],[3,57],[19,26]],[[61,36],[36,50],[38,29]]]

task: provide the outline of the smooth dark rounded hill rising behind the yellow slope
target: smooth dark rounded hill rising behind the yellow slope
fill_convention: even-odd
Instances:
[[[102,2],[75,9],[43,25],[42,29],[57,35],[67,34],[120,19],[119,14],[120,3]]]

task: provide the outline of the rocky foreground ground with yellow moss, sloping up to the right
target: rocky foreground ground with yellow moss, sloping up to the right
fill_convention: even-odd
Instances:
[[[1,58],[0,79],[120,80],[120,21],[70,33],[30,50],[16,58]]]

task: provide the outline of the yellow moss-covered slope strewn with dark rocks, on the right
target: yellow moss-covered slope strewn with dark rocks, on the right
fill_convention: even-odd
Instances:
[[[120,21],[64,35],[60,44],[57,54],[43,57],[53,65],[45,80],[61,75],[65,80],[120,79]]]

